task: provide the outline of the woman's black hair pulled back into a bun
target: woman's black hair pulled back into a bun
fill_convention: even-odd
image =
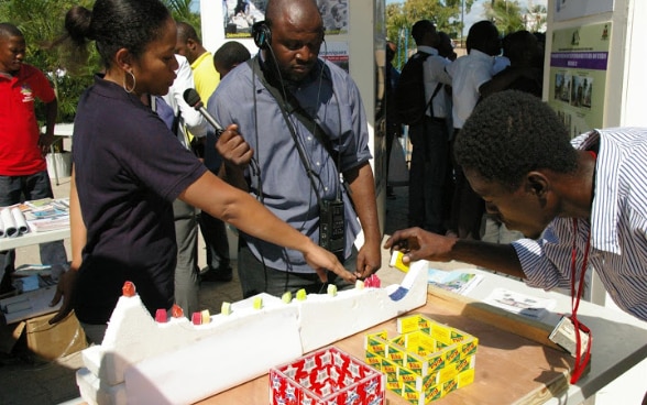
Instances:
[[[65,15],[65,30],[79,51],[95,41],[109,68],[120,48],[140,57],[169,18],[168,9],[158,0],[97,0],[92,11],[73,7]]]

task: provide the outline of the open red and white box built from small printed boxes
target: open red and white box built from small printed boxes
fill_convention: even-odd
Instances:
[[[272,405],[385,405],[385,376],[335,348],[270,370]]]

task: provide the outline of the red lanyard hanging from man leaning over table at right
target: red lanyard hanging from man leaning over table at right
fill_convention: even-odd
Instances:
[[[574,384],[580,380],[582,372],[586,369],[589,360],[591,360],[591,341],[593,337],[591,330],[578,320],[578,308],[580,306],[580,298],[584,291],[584,274],[586,274],[586,265],[589,263],[589,249],[591,248],[591,229],[589,228],[589,236],[586,237],[586,248],[584,249],[584,259],[582,260],[582,270],[580,271],[580,283],[575,291],[575,259],[578,256],[577,250],[578,240],[578,220],[573,218],[573,248],[571,251],[571,321],[575,330],[575,366],[571,373],[571,384]],[[589,341],[586,343],[586,353],[584,358],[581,357],[582,338],[580,330],[589,335]]]

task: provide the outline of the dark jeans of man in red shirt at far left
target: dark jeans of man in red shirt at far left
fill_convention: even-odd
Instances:
[[[0,176],[0,207],[26,200],[54,197],[47,171],[28,176]],[[39,245],[41,263],[67,266],[67,253],[63,241]],[[15,271],[15,251],[0,252],[0,293],[12,289],[11,273]]]

